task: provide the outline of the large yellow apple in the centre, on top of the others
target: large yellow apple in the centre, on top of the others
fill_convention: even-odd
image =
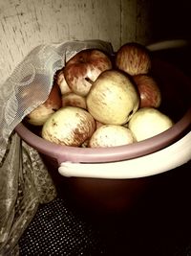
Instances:
[[[100,74],[87,95],[87,108],[102,124],[123,125],[138,110],[139,96],[133,82],[117,70]]]

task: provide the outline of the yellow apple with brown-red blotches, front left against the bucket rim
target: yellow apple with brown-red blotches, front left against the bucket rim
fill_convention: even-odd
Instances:
[[[95,129],[95,119],[88,111],[66,106],[45,122],[42,137],[60,145],[78,147],[92,136]]]

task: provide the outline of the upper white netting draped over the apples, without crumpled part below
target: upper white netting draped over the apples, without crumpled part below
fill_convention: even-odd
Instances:
[[[0,155],[5,152],[8,138],[16,125],[48,98],[54,73],[69,58],[87,48],[113,53],[112,45],[101,40],[68,41],[39,45],[18,64],[11,77],[0,87]]]

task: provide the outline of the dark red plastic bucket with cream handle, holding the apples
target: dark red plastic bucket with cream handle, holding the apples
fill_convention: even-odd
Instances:
[[[105,149],[60,146],[20,123],[15,131],[44,159],[58,193],[79,208],[96,212],[129,209],[144,194],[152,175],[191,159],[191,81],[176,66],[152,58],[159,81],[159,109],[175,122],[172,128],[131,145]]]

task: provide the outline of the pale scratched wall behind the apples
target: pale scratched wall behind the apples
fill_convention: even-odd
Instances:
[[[0,0],[0,83],[38,44],[102,39],[115,50],[124,42],[146,43],[147,1]]]

